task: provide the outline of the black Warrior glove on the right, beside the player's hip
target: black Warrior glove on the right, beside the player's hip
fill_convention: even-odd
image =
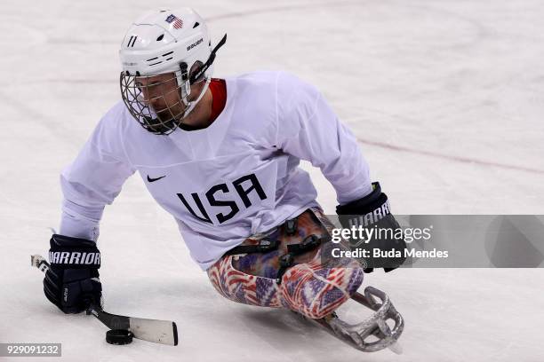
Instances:
[[[372,272],[374,268],[392,271],[404,263],[406,259],[404,256],[404,248],[406,248],[404,236],[398,232],[400,225],[396,222],[395,217],[391,215],[388,196],[381,193],[379,183],[372,183],[372,193],[364,196],[364,198],[349,202],[346,205],[338,205],[336,213],[340,217],[340,224],[345,229],[351,229],[352,226],[357,228],[362,226],[368,231],[375,229],[374,237],[370,240],[350,240],[352,249],[368,250],[370,257],[360,260],[364,265],[364,271]],[[376,236],[377,233],[380,235]],[[374,257],[374,249],[378,248],[384,252],[394,250],[396,256]]]

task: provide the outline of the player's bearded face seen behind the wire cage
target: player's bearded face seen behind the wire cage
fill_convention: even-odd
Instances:
[[[153,108],[161,121],[178,119],[185,111],[173,73],[137,77],[136,86],[140,88],[143,101]]]

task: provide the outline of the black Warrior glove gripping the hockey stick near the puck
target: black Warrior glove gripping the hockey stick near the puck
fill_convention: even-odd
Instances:
[[[100,251],[94,241],[53,234],[49,263],[44,293],[60,311],[79,313],[91,303],[101,305]]]

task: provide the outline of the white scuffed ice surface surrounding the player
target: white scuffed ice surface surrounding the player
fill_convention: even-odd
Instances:
[[[315,83],[361,141],[396,213],[544,213],[541,1],[183,4],[210,20],[216,41],[228,33],[215,75],[284,69]],[[60,169],[118,99],[117,47],[130,21],[153,6],[2,3],[0,342],[61,342],[63,357],[44,361],[544,358],[542,269],[375,272],[365,285],[387,292],[403,313],[404,354],[363,355],[292,313],[223,299],[138,177],[102,223],[107,310],[175,320],[180,345],[111,346],[98,321],[46,302],[28,259],[45,254],[48,227],[59,222]],[[311,172],[332,213],[332,187]]]

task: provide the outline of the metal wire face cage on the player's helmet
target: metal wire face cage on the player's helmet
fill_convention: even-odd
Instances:
[[[202,62],[191,67],[194,74]],[[207,80],[204,75],[192,83]],[[187,65],[182,63],[180,71],[160,75],[130,75],[122,72],[119,78],[124,105],[140,125],[156,135],[168,135],[176,130],[183,118],[204,95],[204,87],[196,101],[189,101],[191,82]]]

